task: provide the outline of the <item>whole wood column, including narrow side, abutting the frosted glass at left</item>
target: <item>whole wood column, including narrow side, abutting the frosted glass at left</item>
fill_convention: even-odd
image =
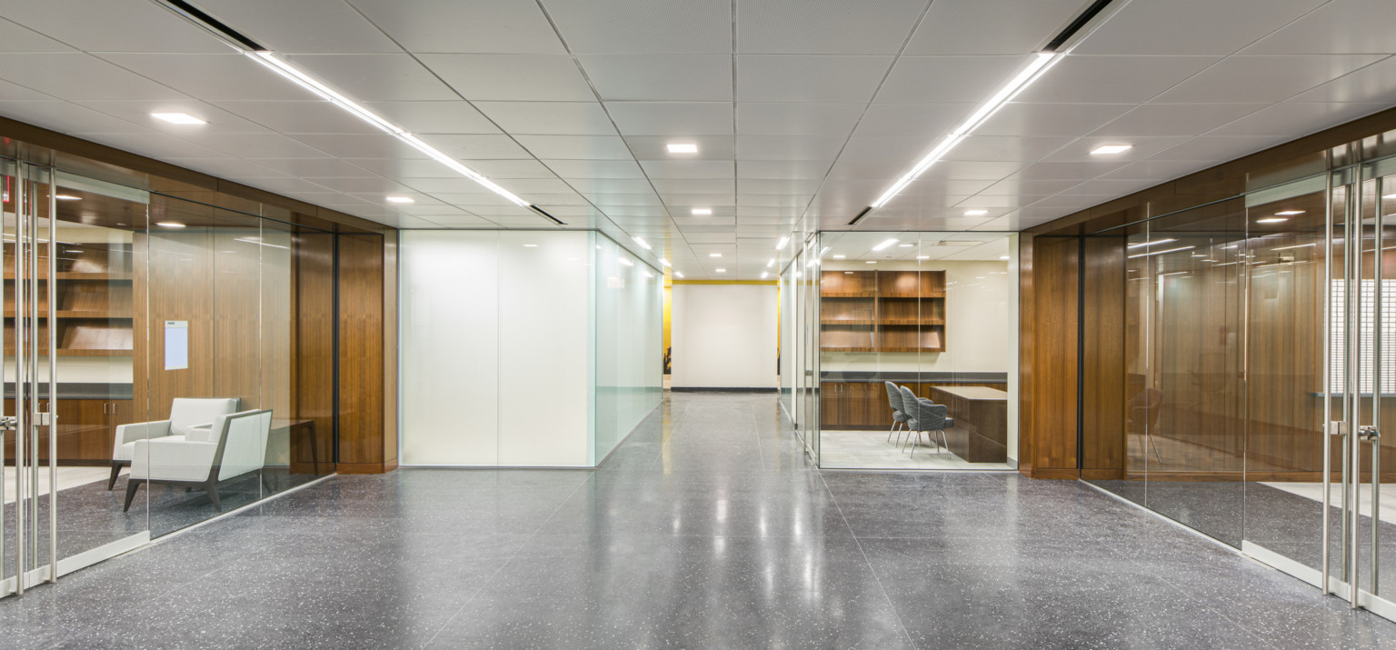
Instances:
[[[341,474],[398,467],[396,231],[339,236]]]

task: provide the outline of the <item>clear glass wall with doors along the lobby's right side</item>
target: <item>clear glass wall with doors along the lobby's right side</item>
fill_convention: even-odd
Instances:
[[[1083,239],[1082,477],[1393,616],[1396,159],[1358,147]]]

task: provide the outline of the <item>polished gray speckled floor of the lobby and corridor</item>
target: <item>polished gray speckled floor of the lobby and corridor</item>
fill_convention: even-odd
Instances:
[[[814,470],[676,394],[596,471],[338,477],[0,601],[13,647],[1396,647],[1072,481]]]

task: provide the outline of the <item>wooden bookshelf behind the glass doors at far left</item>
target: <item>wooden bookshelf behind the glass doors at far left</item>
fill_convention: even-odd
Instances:
[[[4,257],[4,354],[14,354],[14,245]],[[133,257],[130,243],[61,243],[52,281],[57,305],[49,305],[46,245],[39,246],[39,335],[57,327],[59,356],[130,356],[133,354]]]

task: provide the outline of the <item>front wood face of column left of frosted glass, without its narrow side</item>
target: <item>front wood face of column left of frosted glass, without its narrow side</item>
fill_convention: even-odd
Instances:
[[[395,461],[384,440],[384,242],[339,238],[339,458],[345,465]]]

